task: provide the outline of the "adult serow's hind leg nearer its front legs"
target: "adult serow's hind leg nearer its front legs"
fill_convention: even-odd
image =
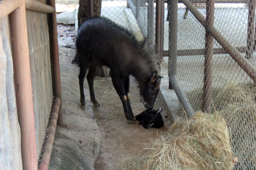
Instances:
[[[87,78],[89,90],[90,90],[90,99],[93,102],[93,105],[100,106],[97,100],[95,99],[94,88],[93,88],[94,77],[96,75],[97,70],[98,70],[98,67],[96,65],[90,65],[86,78]]]

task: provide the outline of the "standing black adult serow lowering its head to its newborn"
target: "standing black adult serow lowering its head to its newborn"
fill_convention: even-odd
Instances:
[[[147,109],[153,109],[160,88],[160,64],[154,49],[148,48],[146,40],[138,41],[131,31],[105,17],[93,17],[81,24],[76,37],[76,55],[79,57],[80,102],[85,109],[84,77],[90,99],[99,105],[93,90],[93,79],[98,68],[106,65],[114,88],[119,95],[128,123],[135,118],[129,99],[129,76],[133,75],[140,86],[140,99]]]

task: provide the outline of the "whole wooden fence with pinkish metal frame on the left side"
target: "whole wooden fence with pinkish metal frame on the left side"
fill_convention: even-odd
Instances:
[[[47,169],[63,123],[55,1],[0,1],[0,169]],[[38,163],[39,162],[39,163]]]

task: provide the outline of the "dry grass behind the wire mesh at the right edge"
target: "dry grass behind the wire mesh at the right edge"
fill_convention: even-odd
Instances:
[[[195,110],[203,110],[201,90],[187,94]],[[228,82],[212,89],[212,113],[223,116],[230,131],[230,144],[238,158],[237,169],[256,168],[256,84]]]

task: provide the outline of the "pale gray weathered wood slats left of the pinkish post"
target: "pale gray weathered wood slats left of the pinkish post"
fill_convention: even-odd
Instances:
[[[22,170],[8,17],[0,20],[0,169]]]

